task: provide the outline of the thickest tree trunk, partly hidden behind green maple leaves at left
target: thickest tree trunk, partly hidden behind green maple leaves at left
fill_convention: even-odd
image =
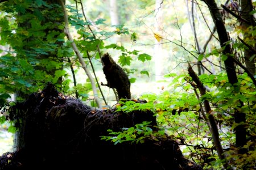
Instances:
[[[49,4],[54,4],[56,5],[56,9],[55,11],[62,11],[61,10],[61,6],[59,3],[57,3],[56,1],[52,1],[52,0],[48,0],[46,1],[47,3]],[[32,3],[35,3],[35,2],[31,2],[31,7],[30,8],[26,8],[26,12],[24,12],[23,14],[19,14],[19,18],[17,18],[17,21],[18,21],[18,25],[19,25],[19,28],[20,30],[23,30],[24,32],[25,31],[30,31],[30,29],[32,28],[32,25],[31,23],[29,22],[23,22],[23,15],[27,15],[27,14],[34,14],[34,11],[35,10],[47,10],[44,6],[44,8],[42,9],[42,6],[39,7],[39,8],[34,8],[32,6]],[[51,8],[49,8],[48,10],[51,10]],[[45,37],[36,37],[36,36],[31,36],[31,37],[28,37],[27,39],[27,42],[24,43],[24,46],[23,46],[23,50],[27,50],[27,51],[30,51],[31,49],[33,48],[38,48],[38,44],[36,44],[34,41],[35,39],[40,39],[42,41],[42,43],[45,43],[45,44],[48,44],[48,40],[47,40],[47,36],[52,33],[52,32],[55,32],[55,36],[53,37],[53,39],[57,39],[57,38],[60,38],[60,35],[61,33],[63,33],[63,30],[58,28],[56,23],[63,23],[64,21],[64,18],[63,16],[60,16],[59,18],[52,18],[52,17],[47,17],[48,14],[46,14],[44,17],[44,20],[40,20],[42,22],[42,25],[55,25],[54,27],[51,27],[51,28],[44,28],[43,32],[46,34]],[[36,17],[36,16],[35,16]],[[60,22],[62,21],[62,22]],[[23,36],[23,35],[22,35]],[[63,39],[64,39],[64,35],[63,35]],[[57,46],[61,46],[63,43],[61,42],[57,42],[55,41],[55,44]],[[44,59],[48,59],[49,61],[48,62],[62,62],[61,60],[63,58],[59,58],[57,56],[57,50],[55,51],[49,51],[47,52],[48,54],[40,54],[39,56],[36,56],[36,59],[40,61],[43,61]],[[56,69],[56,67],[53,67],[53,69],[47,69],[45,66],[42,66],[42,65],[37,65],[35,66],[35,70],[42,70],[42,71],[46,71],[46,73],[48,75],[51,75],[52,77],[55,77],[55,72],[57,70],[62,70],[63,67],[60,67],[59,69]],[[57,78],[55,84],[59,84],[59,88],[61,89],[61,83],[62,83],[62,76],[60,76],[59,78]],[[47,83],[47,82],[45,82]],[[16,97],[28,97],[28,94],[24,94],[23,91],[18,91],[16,92],[15,94]],[[15,150],[19,150],[19,148],[23,148],[24,146],[26,146],[26,143],[24,143],[24,126],[26,126],[26,120],[21,120],[21,124],[20,124],[20,130],[19,131],[16,131],[15,135],[14,135],[14,149]]]

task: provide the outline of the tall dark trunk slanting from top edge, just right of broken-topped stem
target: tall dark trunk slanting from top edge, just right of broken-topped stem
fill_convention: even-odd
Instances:
[[[216,25],[218,38],[220,39],[220,45],[222,48],[224,48],[223,54],[228,56],[228,58],[224,61],[224,65],[225,65],[226,73],[228,75],[229,83],[231,83],[234,86],[235,91],[239,92],[239,86],[237,86],[236,84],[238,82],[236,67],[234,65],[233,59],[230,56],[230,54],[232,54],[232,49],[229,44],[225,44],[226,42],[229,41],[229,36],[228,36],[228,32],[226,31],[224,22],[222,20],[222,16],[214,0],[204,0],[204,2],[209,7],[210,14],[212,15],[212,18],[213,18],[213,22]],[[240,102],[240,107],[242,107],[242,105],[243,103]],[[236,124],[245,122],[245,113],[235,111],[234,119]],[[245,145],[246,129],[243,126],[239,125],[236,127],[235,131],[236,131],[236,146],[241,147]]]

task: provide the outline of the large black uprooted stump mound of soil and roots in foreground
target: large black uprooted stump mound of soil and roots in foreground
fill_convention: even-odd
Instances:
[[[101,140],[108,129],[143,121],[157,130],[152,112],[92,108],[59,94],[52,84],[17,103],[7,118],[17,121],[20,148],[0,157],[0,169],[202,169],[169,137],[117,145]]]

